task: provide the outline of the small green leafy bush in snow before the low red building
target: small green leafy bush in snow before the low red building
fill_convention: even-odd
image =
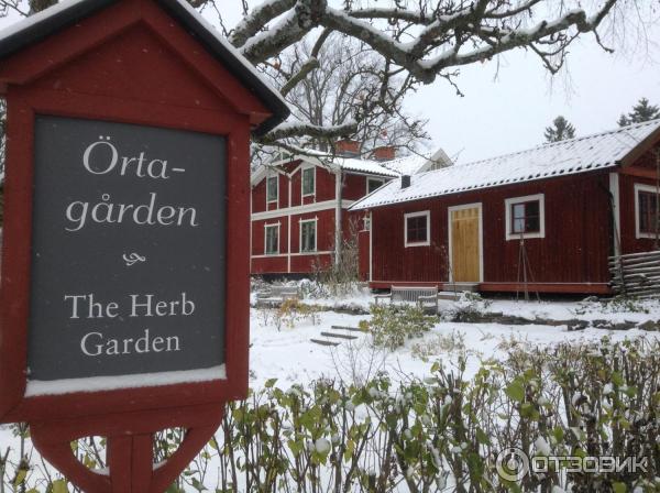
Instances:
[[[437,321],[417,306],[372,305],[370,311],[372,317],[361,324],[362,328],[372,333],[374,346],[389,350],[428,332]]]

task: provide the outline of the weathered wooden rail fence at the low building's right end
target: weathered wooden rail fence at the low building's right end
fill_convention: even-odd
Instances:
[[[660,296],[660,250],[610,256],[609,272],[617,294]]]

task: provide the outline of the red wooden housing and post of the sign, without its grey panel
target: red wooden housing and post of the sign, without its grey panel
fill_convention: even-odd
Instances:
[[[244,61],[233,59],[231,52],[229,68],[219,61],[227,57],[222,46],[213,51],[212,34],[177,1],[84,0],[75,8],[84,4],[87,13],[57,21],[62,25],[56,30],[52,29],[51,19],[50,24],[43,23],[50,30],[45,36],[32,40],[9,56],[0,53],[0,95],[7,99],[8,111],[0,284],[0,423],[30,423],[32,440],[42,454],[90,492],[164,491],[215,432],[224,403],[244,398],[248,393],[250,132],[256,125],[272,127],[274,114],[282,119],[288,110],[260,98],[264,87],[258,80],[256,89],[245,84],[252,76],[250,70],[245,75],[241,65]],[[172,12],[178,14],[173,17]],[[122,45],[124,36],[141,33],[153,53],[144,59],[153,61],[153,66],[142,66],[141,58],[133,56],[140,50],[134,43]],[[28,34],[35,35],[32,31]],[[123,50],[129,55],[125,63],[133,64],[133,72],[148,70],[145,79],[153,80],[152,72],[167,65],[167,85],[152,91],[133,85],[131,77],[114,73],[108,65],[108,53],[102,52],[103,46],[113,43],[118,61],[124,62],[119,59]],[[110,61],[113,62],[117,61]],[[98,64],[102,65],[100,69],[95,68]],[[34,122],[41,114],[226,138],[226,379],[218,375],[219,380],[208,382],[25,396]],[[152,435],[168,427],[184,427],[188,432],[168,462],[153,469]],[[110,475],[88,470],[72,453],[72,440],[91,435],[109,438]]]

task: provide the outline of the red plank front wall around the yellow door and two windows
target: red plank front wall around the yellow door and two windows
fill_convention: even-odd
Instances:
[[[440,283],[448,275],[448,207],[482,202],[484,282],[515,283],[519,242],[505,239],[505,199],[542,193],[546,238],[527,239],[538,283],[607,283],[608,175],[581,174],[487,188],[373,210],[373,282]],[[430,210],[429,246],[404,246],[404,213]]]

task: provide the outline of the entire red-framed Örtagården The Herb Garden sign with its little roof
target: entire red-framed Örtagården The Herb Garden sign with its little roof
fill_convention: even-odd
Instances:
[[[65,1],[0,32],[0,423],[86,492],[162,492],[246,395],[250,133],[286,103],[180,0]],[[87,436],[109,472],[73,454]]]

